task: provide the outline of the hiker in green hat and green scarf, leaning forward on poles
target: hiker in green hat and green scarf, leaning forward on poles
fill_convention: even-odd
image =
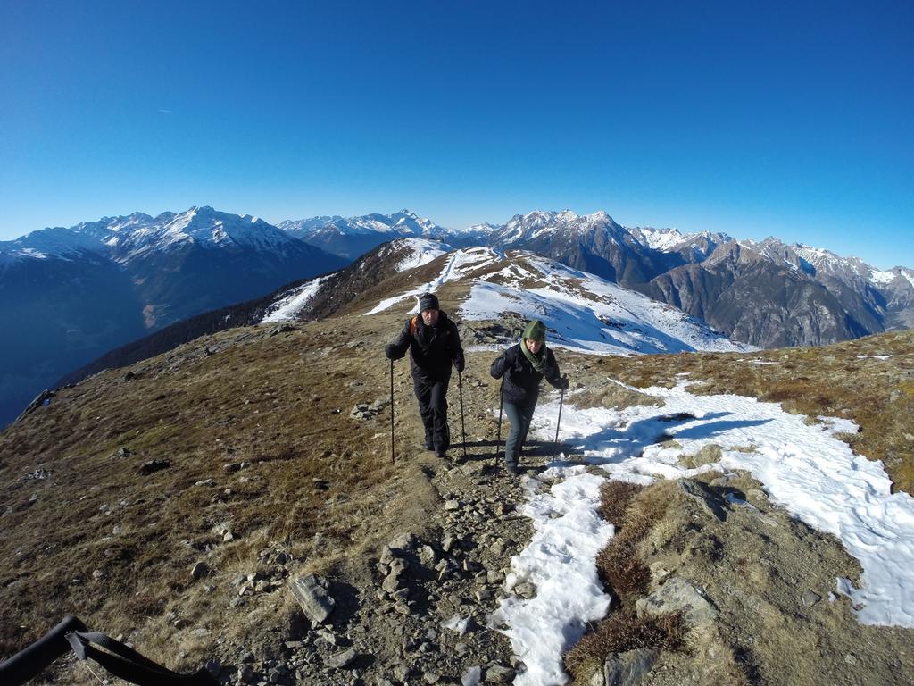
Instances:
[[[517,457],[537,408],[539,382],[546,377],[553,386],[565,390],[569,380],[559,375],[556,356],[546,347],[546,327],[539,319],[526,325],[520,343],[495,358],[489,373],[495,379],[505,377],[502,405],[511,422],[511,433],[505,441],[505,468],[517,476]]]

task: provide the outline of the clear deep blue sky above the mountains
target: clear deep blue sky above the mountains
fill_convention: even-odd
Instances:
[[[533,209],[914,267],[914,3],[0,2],[0,240]]]

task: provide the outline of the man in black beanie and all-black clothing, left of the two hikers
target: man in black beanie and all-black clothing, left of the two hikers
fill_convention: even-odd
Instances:
[[[438,305],[438,298],[426,293],[419,300],[420,314],[407,319],[399,338],[388,343],[388,359],[400,359],[409,348],[412,387],[425,424],[425,447],[444,457],[451,445],[448,428],[448,382],[451,365],[463,370],[463,348],[455,325]]]

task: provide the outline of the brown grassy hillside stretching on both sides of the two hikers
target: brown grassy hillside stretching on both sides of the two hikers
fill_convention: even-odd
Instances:
[[[461,295],[450,287],[442,302]],[[282,654],[303,631],[297,606],[276,593],[284,581],[319,572],[365,582],[385,542],[427,529],[441,509],[437,467],[416,449],[420,428],[403,363],[395,388],[401,459],[390,464],[381,350],[402,317],[361,316],[352,305],[321,322],[199,338],[58,391],[7,428],[0,655],[66,612],[172,668],[212,656],[230,661],[241,647]],[[471,354],[463,377],[468,431],[490,439],[492,357]],[[897,488],[914,488],[914,333],[752,354],[562,359],[572,381],[593,385],[592,402],[640,401],[591,381],[646,387],[686,373],[696,391],[853,419],[862,432],[848,436],[851,445],[884,460]],[[455,393],[452,386],[452,402]],[[350,416],[356,403],[373,402],[379,413]],[[486,478],[471,481],[485,492]],[[199,562],[209,572],[192,579]],[[255,594],[258,582],[265,586]],[[90,682],[79,670],[58,679]]]

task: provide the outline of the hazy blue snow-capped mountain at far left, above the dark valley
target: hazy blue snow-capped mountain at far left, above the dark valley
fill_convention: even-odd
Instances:
[[[103,352],[345,264],[263,220],[194,207],[0,242],[0,425]]]

